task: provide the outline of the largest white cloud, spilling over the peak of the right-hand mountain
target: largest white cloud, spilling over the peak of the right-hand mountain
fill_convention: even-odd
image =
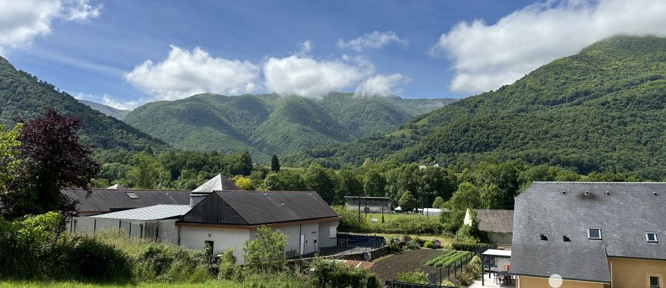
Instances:
[[[476,93],[513,83],[533,69],[617,34],[666,35],[666,1],[565,0],[527,6],[488,25],[456,24],[430,53],[444,53],[451,90]]]

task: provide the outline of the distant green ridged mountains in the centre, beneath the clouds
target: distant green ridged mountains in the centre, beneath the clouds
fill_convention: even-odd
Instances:
[[[284,155],[386,133],[452,101],[350,93],[332,93],[322,99],[199,94],[147,103],[124,121],[179,149],[250,151],[258,160],[267,160],[273,153]]]

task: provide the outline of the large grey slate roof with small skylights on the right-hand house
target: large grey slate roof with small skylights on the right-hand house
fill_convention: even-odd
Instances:
[[[535,182],[515,201],[511,272],[610,282],[607,257],[666,260],[665,206],[666,183]],[[588,228],[603,239],[588,239]]]

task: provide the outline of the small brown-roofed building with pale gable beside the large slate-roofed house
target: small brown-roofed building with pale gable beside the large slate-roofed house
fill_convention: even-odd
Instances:
[[[479,230],[486,232],[488,239],[493,244],[511,248],[513,241],[513,210],[475,210],[477,212],[477,221],[479,221]],[[468,209],[465,214],[465,225],[472,224],[471,211]]]

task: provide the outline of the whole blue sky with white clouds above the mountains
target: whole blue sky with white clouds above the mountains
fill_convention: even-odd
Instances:
[[[462,98],[617,34],[666,1],[0,0],[0,55],[78,99],[203,92]]]

